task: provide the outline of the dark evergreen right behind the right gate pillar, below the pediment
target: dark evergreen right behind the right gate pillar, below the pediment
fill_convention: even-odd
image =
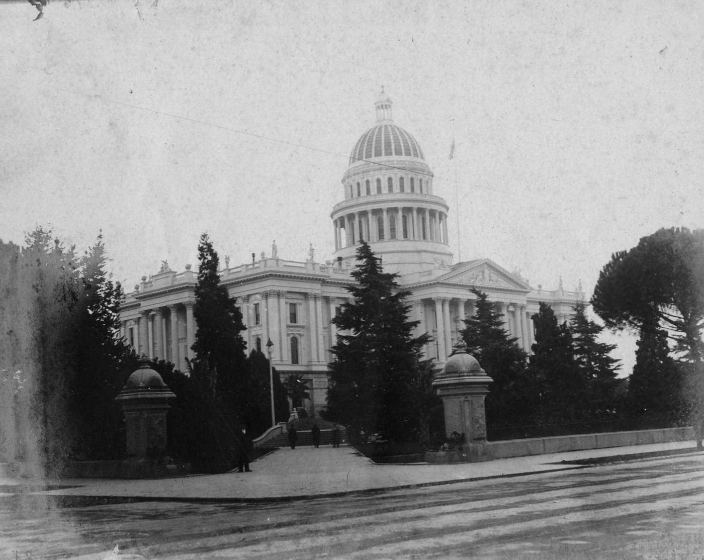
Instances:
[[[486,395],[486,423],[489,428],[518,426],[529,420],[530,390],[526,376],[527,353],[504,329],[503,314],[496,312],[486,293],[472,288],[476,300],[474,316],[464,320],[460,334],[467,352],[494,383]]]

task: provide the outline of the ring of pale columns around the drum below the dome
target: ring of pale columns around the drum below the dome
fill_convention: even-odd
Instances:
[[[382,241],[391,239],[391,217],[394,217],[394,239],[423,240],[423,222],[425,220],[425,241],[447,243],[447,215],[440,210],[412,207],[403,211],[405,206],[376,208],[350,212],[333,220],[335,250],[355,245],[360,238],[365,241]],[[382,218],[382,229],[377,219]],[[403,217],[406,217],[406,236],[403,236]],[[344,231],[344,235],[343,235]]]

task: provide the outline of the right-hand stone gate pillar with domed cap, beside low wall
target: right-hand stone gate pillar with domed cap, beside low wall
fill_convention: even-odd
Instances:
[[[445,431],[463,434],[461,452],[446,457],[446,462],[486,461],[486,413],[484,397],[489,393],[491,377],[486,375],[474,356],[467,354],[460,342],[448,357],[445,367],[433,380],[433,387],[443,401]],[[458,450],[460,451],[460,450]]]

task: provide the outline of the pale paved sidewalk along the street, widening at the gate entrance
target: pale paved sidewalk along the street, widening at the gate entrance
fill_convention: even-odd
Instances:
[[[584,469],[584,465],[563,464],[598,457],[639,455],[691,448],[693,442],[609,447],[598,450],[565,452],[497,459],[482,463],[462,464],[374,464],[352,447],[333,449],[329,445],[279,449],[251,464],[251,473],[194,475],[158,480],[120,480],[105,478],[62,479],[44,481],[60,484],[61,490],[36,492],[20,490],[37,481],[0,479],[4,493],[15,494],[17,485],[23,493],[81,497],[113,497],[132,499],[168,499],[193,501],[276,501],[344,495],[349,492],[391,490],[419,485],[441,485],[482,478],[520,476],[548,471]]]

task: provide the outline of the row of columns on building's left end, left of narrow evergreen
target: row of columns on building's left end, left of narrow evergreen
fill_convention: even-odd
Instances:
[[[195,342],[196,322],[193,316],[194,303],[189,301],[183,304],[172,304],[166,307],[154,307],[153,309],[141,310],[139,317],[132,322],[122,322],[123,338],[127,340],[138,354],[144,354],[150,358],[168,359],[183,367],[182,359],[193,357],[191,346]],[[180,355],[179,331],[181,320],[179,317],[180,307],[186,309],[186,352]],[[168,313],[165,311],[168,310]],[[130,338],[130,328],[132,337]]]

